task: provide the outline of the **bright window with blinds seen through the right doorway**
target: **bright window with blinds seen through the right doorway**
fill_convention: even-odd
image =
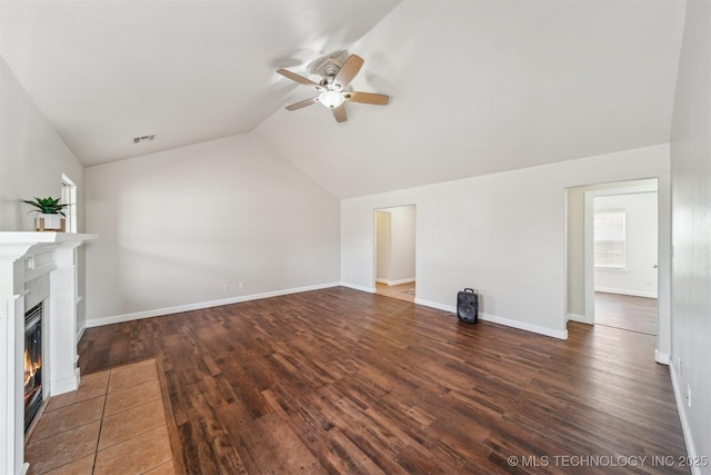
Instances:
[[[624,269],[624,209],[595,211],[595,267]]]

